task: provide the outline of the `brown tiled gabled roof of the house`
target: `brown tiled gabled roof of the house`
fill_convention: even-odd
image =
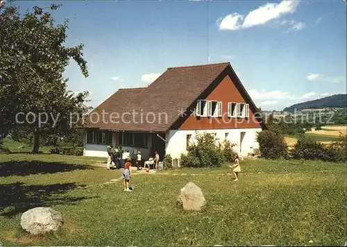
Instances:
[[[215,84],[221,74],[225,74],[226,71],[228,74],[232,73],[236,76],[228,62],[168,68],[148,87],[118,90],[93,111],[102,116],[101,112],[105,110],[108,112],[105,115],[107,119],[112,112],[117,112],[119,118],[115,121],[119,122],[103,123],[101,117],[99,123],[87,123],[85,127],[102,130],[166,132],[174,123],[179,121],[181,117],[179,111],[191,107],[196,99],[212,83]],[[239,80],[236,83],[244,90]],[[246,90],[244,92],[246,93]],[[244,95],[251,101],[247,93]],[[252,104],[255,108],[253,101],[251,101],[250,106]],[[124,115],[125,121],[121,121],[121,115],[124,112],[129,113]],[[130,116],[132,112],[136,112],[135,117]],[[153,112],[153,114],[149,112]],[[160,115],[160,113],[162,114]],[[113,116],[117,114],[113,113]],[[156,119],[151,123],[153,115]],[[146,116],[148,116],[148,121],[146,121]],[[161,121],[158,120],[159,118]]]

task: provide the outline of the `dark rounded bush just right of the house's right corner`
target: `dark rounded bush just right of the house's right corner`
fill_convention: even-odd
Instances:
[[[260,155],[266,159],[287,158],[285,138],[273,130],[262,130],[257,133]]]

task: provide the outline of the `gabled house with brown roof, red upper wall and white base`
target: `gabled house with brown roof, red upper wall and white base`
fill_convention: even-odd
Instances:
[[[84,126],[85,156],[107,157],[122,146],[147,159],[158,151],[179,159],[197,132],[237,144],[240,155],[257,150],[262,117],[230,63],[168,68],[148,87],[120,89],[93,110]]]

